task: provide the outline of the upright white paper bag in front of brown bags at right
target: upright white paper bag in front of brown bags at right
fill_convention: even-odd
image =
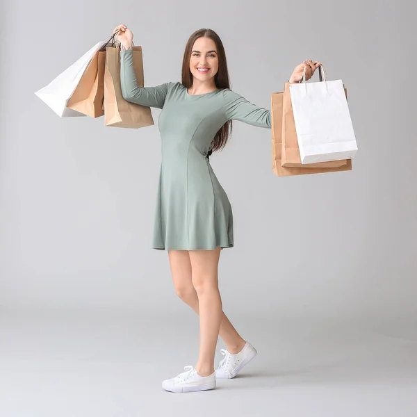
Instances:
[[[304,78],[290,92],[301,163],[352,159],[358,147],[342,81]]]

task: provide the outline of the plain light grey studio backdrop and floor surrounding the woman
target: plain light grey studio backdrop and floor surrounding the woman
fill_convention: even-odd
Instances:
[[[189,404],[201,416],[416,414],[410,5],[1,3],[2,415],[192,415]],[[145,85],[180,81],[189,35],[209,27],[231,88],[255,104],[270,108],[306,58],[347,87],[352,172],[275,177],[270,130],[240,122],[211,156],[234,209],[235,247],[220,257],[224,311],[262,353],[211,393],[160,389],[195,364],[198,318],[174,293],[167,253],[151,247],[156,124],[60,119],[34,95],[120,23],[143,47]]]

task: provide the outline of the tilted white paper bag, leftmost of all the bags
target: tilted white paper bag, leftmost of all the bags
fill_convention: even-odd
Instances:
[[[103,41],[97,42],[89,51],[85,52],[74,64],[59,74],[44,88],[35,92],[47,106],[49,106],[60,117],[85,116],[83,113],[72,108],[67,108],[67,103],[76,89],[81,76]]]

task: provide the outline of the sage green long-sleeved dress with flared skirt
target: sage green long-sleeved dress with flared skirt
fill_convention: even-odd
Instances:
[[[120,51],[124,99],[161,108],[161,171],[154,215],[158,250],[214,250],[234,245],[227,194],[208,160],[215,134],[227,120],[270,128],[270,111],[229,89],[190,95],[181,83],[140,88],[131,49]]]

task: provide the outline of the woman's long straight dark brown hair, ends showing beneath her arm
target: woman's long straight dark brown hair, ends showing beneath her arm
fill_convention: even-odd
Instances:
[[[219,35],[215,33],[215,31],[205,28],[195,31],[193,35],[190,36],[190,39],[188,39],[183,58],[182,84],[186,88],[190,88],[191,85],[193,85],[193,74],[191,74],[190,71],[191,51],[193,50],[194,42],[198,38],[202,38],[203,36],[212,39],[215,42],[215,46],[217,47],[219,69],[217,74],[215,74],[214,76],[214,82],[216,87],[218,89],[230,88],[229,71],[227,70],[227,59],[226,53],[224,52],[222,40],[220,40]],[[223,126],[220,128],[218,133],[215,134],[213,141],[211,142],[212,151],[220,150],[226,145],[232,129],[233,126],[231,120],[227,120],[227,122],[224,123]]]

